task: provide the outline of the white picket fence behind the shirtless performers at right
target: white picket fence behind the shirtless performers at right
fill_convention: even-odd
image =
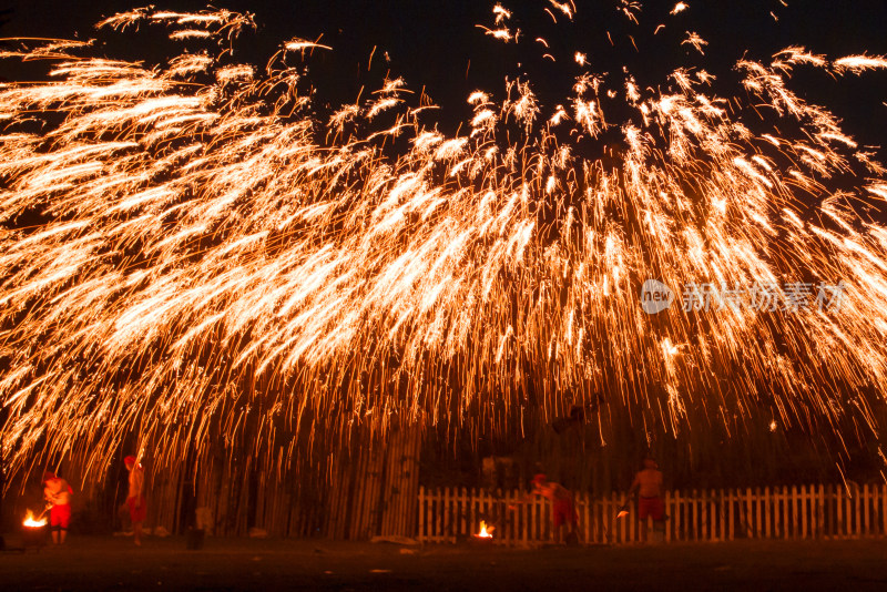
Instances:
[[[493,543],[531,544],[551,539],[551,508],[526,492],[419,488],[418,538],[455,542],[492,524]],[[636,506],[616,518],[624,493],[591,498],[575,493],[579,535],[585,544],[631,544],[641,540]],[[734,539],[858,539],[887,535],[887,486],[792,486],[669,491],[664,497],[665,541]],[[516,504],[509,510],[509,504]],[[652,522],[651,522],[652,524]],[[652,533],[652,527],[648,529]],[[650,534],[649,534],[650,535]]]

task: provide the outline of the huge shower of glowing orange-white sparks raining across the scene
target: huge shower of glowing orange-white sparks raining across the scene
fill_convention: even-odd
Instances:
[[[618,4],[635,24],[641,8]],[[526,42],[509,10],[493,19],[486,34]],[[99,25],[151,23],[188,43],[254,28],[152,9]],[[400,79],[315,121],[286,60],[330,48],[281,47],[264,70],[210,50],[157,68],[78,42],[8,53],[55,60],[52,83],[0,86],[0,436],[16,467],[60,450],[106,460],[130,428],[163,443],[159,465],[215,453],[249,421],[256,456],[360,421],[507,431],[529,392],[555,404],[542,419],[603,392],[680,435],[766,399],[771,430],[852,418],[879,433],[887,229],[854,204],[883,203],[887,182],[791,73],[884,58],[788,48],[741,61],[731,98],[689,68],[651,85],[584,72],[552,105],[512,79],[471,93],[469,131],[447,136]],[[746,95],[778,124],[744,118]],[[676,293],[655,318],[638,297],[648,278]],[[853,289],[839,312],[681,306],[689,284],[779,278]]]

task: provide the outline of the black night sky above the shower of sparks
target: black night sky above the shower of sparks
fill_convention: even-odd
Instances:
[[[213,6],[256,16],[259,30],[244,35],[236,44],[239,60],[262,64],[283,40],[293,37],[316,39],[334,48],[317,52],[309,62],[310,80],[318,88],[320,103],[338,104],[356,98],[361,85],[378,88],[390,69],[415,91],[426,88],[445,108],[440,118],[461,121],[468,113],[466,96],[473,90],[502,90],[504,75],[527,74],[534,83],[543,105],[551,108],[569,92],[579,68],[574,51],[587,53],[595,72],[619,73],[623,67],[644,85],[660,85],[679,65],[704,68],[721,83],[733,84],[723,94],[736,91],[738,74],[731,67],[743,54],[766,60],[791,44],[805,45],[816,53],[837,58],[850,53],[887,54],[887,1],[857,0],[687,0],[690,9],[670,17],[674,0],[646,0],[639,13],[639,24],[630,23],[616,11],[619,0],[574,0],[577,19],[553,25],[542,9],[546,0],[502,0],[513,17],[510,24],[523,31],[520,47],[503,44],[483,34],[476,24],[492,25],[495,2],[458,0],[429,2],[400,0],[216,0]],[[94,37],[91,24],[103,16],[146,2],[133,0],[92,0],[59,2],[52,0],[0,0],[0,9],[11,8],[2,37]],[[157,8],[197,10],[206,2],[157,0]],[[774,20],[771,12],[778,20]],[[666,28],[651,34],[656,24]],[[613,39],[608,40],[606,32]],[[705,57],[681,47],[686,31],[695,31],[708,41]],[[629,38],[633,38],[638,50]],[[104,39],[109,35],[102,35]],[[541,59],[541,47],[532,40],[546,38],[557,63]],[[121,49],[106,50],[126,58],[149,61],[162,58],[156,38],[128,35]],[[377,45],[373,70],[367,61]],[[108,45],[110,48],[110,45]],[[390,63],[386,63],[384,52]],[[469,68],[470,61],[470,68]],[[518,65],[520,64],[520,65]],[[467,75],[466,75],[467,72]],[[0,63],[0,74],[19,78],[9,63]],[[615,82],[615,80],[613,81]],[[887,71],[868,72],[861,78],[845,76],[836,82],[824,73],[798,72],[796,91],[806,99],[826,104],[846,121],[847,131],[861,143],[881,144],[887,134]],[[716,89],[720,90],[720,89]]]

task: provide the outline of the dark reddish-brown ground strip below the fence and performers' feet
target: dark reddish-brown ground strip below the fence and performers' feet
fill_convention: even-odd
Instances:
[[[14,537],[9,543],[16,543]],[[381,543],[72,537],[0,554],[0,590],[879,590],[887,540],[736,541],[503,549],[462,543],[407,554]]]

